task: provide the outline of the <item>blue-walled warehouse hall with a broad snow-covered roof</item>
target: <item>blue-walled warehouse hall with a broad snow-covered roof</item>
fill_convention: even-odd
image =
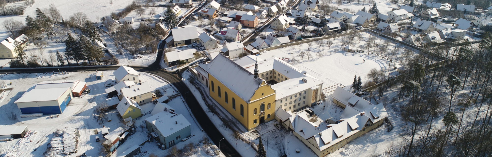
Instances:
[[[72,100],[70,87],[32,89],[14,103],[22,114],[59,114]]]

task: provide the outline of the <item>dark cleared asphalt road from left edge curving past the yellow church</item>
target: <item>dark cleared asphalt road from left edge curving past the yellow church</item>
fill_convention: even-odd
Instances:
[[[157,58],[155,62],[149,67],[137,67],[132,66],[137,71],[152,73],[161,78],[166,79],[171,82],[182,96],[184,96],[190,90],[181,80],[180,76],[177,74],[171,74],[167,71],[160,69],[159,61],[162,58],[162,49],[159,50],[157,54]],[[0,69],[0,73],[45,73],[45,72],[53,72],[58,71],[68,71],[68,72],[76,72],[76,71],[95,71],[95,70],[116,70],[120,66],[92,66],[92,67],[55,67],[55,68],[26,68],[26,69]],[[191,92],[190,92],[191,93]],[[186,104],[191,109],[191,112],[195,116],[196,120],[203,128],[203,130],[210,136],[211,140],[218,146],[220,140],[224,138],[224,136],[217,130],[215,125],[212,123],[210,118],[207,116],[202,107],[198,104],[198,101],[195,97],[184,97],[186,98]],[[232,147],[232,145],[227,141],[220,142],[220,150],[226,157],[241,157],[241,155]]]

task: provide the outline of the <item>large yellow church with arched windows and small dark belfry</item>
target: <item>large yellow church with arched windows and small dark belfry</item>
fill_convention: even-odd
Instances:
[[[210,96],[248,131],[274,120],[276,91],[226,56],[219,54],[209,63]]]

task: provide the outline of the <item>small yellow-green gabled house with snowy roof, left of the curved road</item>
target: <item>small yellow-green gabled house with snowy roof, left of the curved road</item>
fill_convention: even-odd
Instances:
[[[142,116],[140,105],[137,102],[124,97],[120,104],[116,106],[116,109],[123,117],[123,119],[131,117],[131,119],[138,118]]]

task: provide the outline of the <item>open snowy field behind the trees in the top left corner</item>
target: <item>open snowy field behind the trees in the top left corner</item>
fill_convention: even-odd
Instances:
[[[35,17],[34,10],[36,8],[47,8],[50,4],[54,4],[64,19],[68,19],[76,12],[83,12],[87,14],[87,18],[91,21],[100,22],[103,16],[109,15],[112,12],[120,12],[123,8],[131,4],[133,1],[142,2],[143,0],[112,0],[113,4],[109,4],[110,0],[35,0],[32,6],[28,6],[24,12],[24,15],[18,16],[0,16],[0,24],[7,19],[15,19],[21,22],[25,21],[26,16]],[[9,3],[8,5],[20,5],[21,2]],[[7,6],[8,6],[7,5]],[[0,28],[0,38],[5,39],[10,34],[5,28]]]

